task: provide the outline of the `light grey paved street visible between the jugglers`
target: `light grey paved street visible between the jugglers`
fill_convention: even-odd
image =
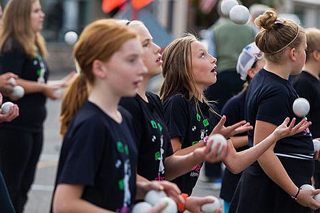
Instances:
[[[52,73],[51,80],[61,79],[64,75],[62,73]],[[59,136],[60,104],[61,100],[47,101],[48,115],[44,123],[44,147],[38,163],[36,180],[29,192],[29,201],[27,202],[25,213],[44,213],[49,212],[50,209],[55,171],[62,143],[62,138]],[[198,181],[194,189],[194,195],[200,197],[214,195],[218,197],[219,188],[214,184]]]

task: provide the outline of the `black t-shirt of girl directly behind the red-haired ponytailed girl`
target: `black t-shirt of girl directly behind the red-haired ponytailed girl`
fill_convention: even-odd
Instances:
[[[120,105],[133,115],[138,146],[137,173],[148,180],[164,180],[164,160],[172,155],[172,146],[159,96],[150,92],[146,92],[146,96],[148,102],[136,95],[122,98]]]

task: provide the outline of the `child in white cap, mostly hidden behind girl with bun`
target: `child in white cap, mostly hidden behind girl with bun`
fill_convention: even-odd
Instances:
[[[245,81],[243,90],[237,96],[230,98],[222,108],[222,115],[226,115],[226,125],[235,124],[245,119],[244,106],[245,94],[253,76],[265,66],[265,59],[263,53],[258,49],[254,42],[248,44],[243,48],[239,55],[237,62],[237,72],[240,74],[241,79]],[[248,147],[248,134],[243,132],[230,137],[232,144],[237,152],[247,150]],[[224,169],[222,175],[222,185],[220,189],[220,197],[224,199],[224,212],[228,212],[229,205],[232,200],[233,194],[241,177],[241,173],[232,174],[228,168]]]

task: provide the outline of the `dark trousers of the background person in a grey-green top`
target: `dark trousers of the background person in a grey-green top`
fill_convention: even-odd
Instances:
[[[235,69],[226,70],[217,74],[217,82],[214,85],[206,87],[204,95],[207,100],[217,101],[216,106],[219,111],[221,111],[224,104],[226,104],[232,96],[239,94],[243,88],[243,83],[244,81],[240,79],[240,76]],[[207,177],[221,177],[221,162],[206,163],[205,171]]]

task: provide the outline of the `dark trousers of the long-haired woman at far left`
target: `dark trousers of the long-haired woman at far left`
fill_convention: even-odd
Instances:
[[[17,213],[23,212],[42,150],[43,132],[0,130],[0,169]]]

